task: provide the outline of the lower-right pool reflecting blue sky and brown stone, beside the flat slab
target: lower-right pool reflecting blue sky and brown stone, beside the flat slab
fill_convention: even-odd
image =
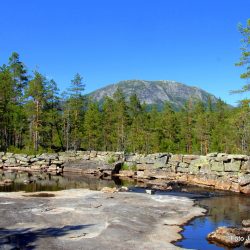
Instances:
[[[201,199],[197,201],[197,204],[206,207],[208,214],[205,217],[194,219],[184,227],[182,232],[184,239],[176,243],[177,246],[192,249],[223,249],[222,246],[210,244],[206,240],[207,234],[219,226],[241,226],[242,220],[250,217],[249,196],[227,195],[213,197]]]

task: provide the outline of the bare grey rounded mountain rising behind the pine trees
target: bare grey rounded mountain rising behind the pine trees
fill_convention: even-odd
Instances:
[[[158,107],[162,107],[165,102],[169,102],[175,109],[180,109],[190,98],[192,100],[201,100],[204,103],[207,103],[210,98],[212,104],[215,104],[218,100],[214,95],[200,88],[165,80],[120,81],[116,84],[111,84],[93,91],[89,96],[94,101],[102,103],[105,96],[112,97],[118,87],[123,91],[126,99],[129,99],[129,96],[132,94],[137,94],[141,103],[146,103],[148,105],[156,104]]]

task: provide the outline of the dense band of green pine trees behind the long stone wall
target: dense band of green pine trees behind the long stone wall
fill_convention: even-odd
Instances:
[[[139,153],[249,153],[248,100],[232,108],[187,101],[176,111],[125,99],[121,89],[102,104],[84,95],[76,74],[67,91],[38,71],[29,75],[18,53],[0,67],[0,150],[108,150]]]

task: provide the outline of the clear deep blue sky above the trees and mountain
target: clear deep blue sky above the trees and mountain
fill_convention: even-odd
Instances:
[[[239,22],[250,0],[0,0],[0,64],[12,51],[66,89],[127,79],[176,80],[234,104],[245,84]]]

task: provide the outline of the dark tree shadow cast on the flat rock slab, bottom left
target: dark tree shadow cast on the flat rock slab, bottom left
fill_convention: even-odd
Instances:
[[[34,230],[33,228],[5,229],[0,228],[0,246],[5,249],[35,249],[35,242],[40,238],[60,237],[72,231],[91,227],[93,224],[49,227]],[[2,249],[0,247],[0,249]],[[11,248],[9,248],[11,247]]]

